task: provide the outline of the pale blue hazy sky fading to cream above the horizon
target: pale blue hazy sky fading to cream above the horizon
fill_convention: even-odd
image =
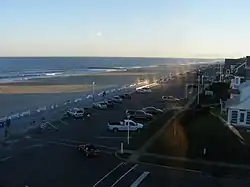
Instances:
[[[249,0],[0,0],[0,56],[245,56],[249,7]]]

